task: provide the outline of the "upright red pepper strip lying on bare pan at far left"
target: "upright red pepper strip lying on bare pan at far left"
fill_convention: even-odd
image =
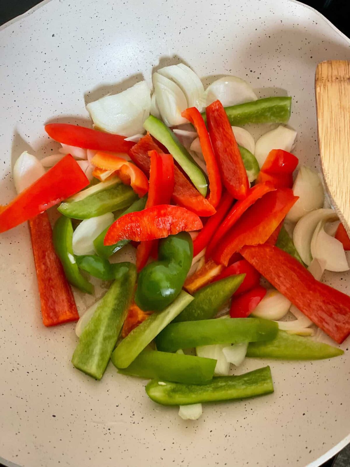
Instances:
[[[79,319],[73,293],[52,242],[47,212],[29,220],[32,248],[38,278],[42,322],[45,326]]]

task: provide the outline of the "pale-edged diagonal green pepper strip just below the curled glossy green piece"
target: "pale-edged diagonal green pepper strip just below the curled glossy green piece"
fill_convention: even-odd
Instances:
[[[113,363],[117,368],[126,368],[154,340],[181,311],[193,300],[182,290],[174,302],[163,311],[155,311],[146,321],[135,327],[113,352]],[[179,347],[180,348],[180,347]]]

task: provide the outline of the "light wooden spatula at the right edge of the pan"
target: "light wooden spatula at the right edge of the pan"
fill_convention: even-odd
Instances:
[[[324,180],[339,219],[350,234],[350,62],[319,63],[315,93]]]

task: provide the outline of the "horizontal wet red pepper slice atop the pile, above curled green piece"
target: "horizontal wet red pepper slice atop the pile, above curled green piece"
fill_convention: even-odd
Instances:
[[[201,219],[194,212],[180,206],[157,205],[143,211],[130,212],[114,221],[105,235],[104,244],[114,245],[126,239],[155,240],[202,227]]]

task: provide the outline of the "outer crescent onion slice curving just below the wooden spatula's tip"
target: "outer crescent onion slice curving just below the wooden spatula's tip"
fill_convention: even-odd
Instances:
[[[296,224],[293,232],[293,241],[301,259],[308,266],[312,261],[311,240],[317,224],[324,222],[334,222],[338,215],[333,209],[317,209],[303,216]]]

